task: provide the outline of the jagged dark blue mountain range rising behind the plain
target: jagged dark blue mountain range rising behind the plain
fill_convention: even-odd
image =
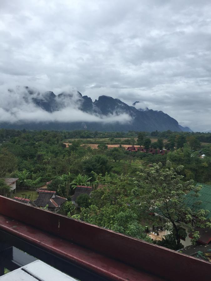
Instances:
[[[11,91],[11,90],[10,90]],[[26,94],[23,101],[27,104],[33,104],[34,108],[42,109],[49,114],[57,114],[67,109],[71,116],[74,111],[74,118],[67,120],[53,119],[53,121],[30,121],[18,120],[17,122],[2,122],[0,127],[13,129],[29,130],[91,130],[91,131],[191,131],[188,127],[182,127],[178,122],[163,111],[154,111],[152,109],[137,109],[128,106],[119,99],[110,96],[99,96],[94,102],[88,96],[82,96],[80,92],[68,93],[62,92],[55,95],[52,91],[39,93],[34,89],[25,87]],[[1,106],[0,106],[1,107]],[[85,114],[86,113],[86,114]],[[78,119],[77,119],[78,114]],[[84,118],[81,115],[85,114]],[[97,121],[95,121],[95,117]]]

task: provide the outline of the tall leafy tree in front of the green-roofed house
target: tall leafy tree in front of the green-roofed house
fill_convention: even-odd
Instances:
[[[148,206],[148,211],[154,210],[171,222],[170,231],[176,239],[176,244],[180,245],[180,237],[186,235],[183,226],[193,233],[192,242],[199,238],[198,231],[195,231],[193,224],[200,227],[210,227],[205,217],[206,210],[194,208],[190,209],[186,203],[184,195],[193,191],[198,197],[201,187],[195,187],[193,180],[183,182],[183,176],[178,175],[183,170],[183,166],[178,166],[175,170],[170,161],[166,162],[166,168],[161,163],[153,164],[152,167],[141,168],[138,175],[142,176],[143,183],[146,184],[148,196],[144,197],[141,204]],[[197,206],[201,204],[196,201]],[[178,223],[180,222],[180,223]]]

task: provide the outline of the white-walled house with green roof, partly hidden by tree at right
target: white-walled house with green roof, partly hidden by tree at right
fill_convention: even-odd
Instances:
[[[196,186],[202,185],[201,190],[198,192],[199,196],[194,197],[194,191],[190,191],[188,194],[184,196],[184,202],[186,205],[193,210],[194,206],[194,211],[204,209],[208,210],[209,213],[206,216],[206,219],[209,220],[211,218],[211,185],[205,185],[201,183],[197,183]],[[202,201],[200,205],[194,205],[195,201]],[[161,213],[157,213],[156,215],[159,215],[162,217]],[[170,222],[167,222],[170,224]],[[180,224],[179,222],[177,223],[178,225]],[[194,226],[194,225],[193,225]],[[187,236],[186,237],[181,237],[181,243],[186,247],[191,245],[191,239],[192,233],[188,232],[188,228],[183,226],[183,229],[185,230]],[[199,231],[200,238],[197,241],[197,244],[209,244],[211,241],[211,229],[210,228],[199,228],[195,227],[194,230]],[[166,234],[170,234],[168,230],[166,230]],[[165,235],[166,235],[165,234]]]

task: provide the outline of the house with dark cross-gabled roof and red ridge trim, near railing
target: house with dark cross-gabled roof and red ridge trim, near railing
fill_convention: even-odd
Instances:
[[[38,207],[57,213],[67,199],[56,195],[56,191],[40,190],[38,198],[33,201]]]

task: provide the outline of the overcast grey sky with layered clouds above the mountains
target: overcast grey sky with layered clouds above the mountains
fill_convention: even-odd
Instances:
[[[210,11],[208,0],[1,0],[0,102],[17,85],[69,87],[211,131]]]

